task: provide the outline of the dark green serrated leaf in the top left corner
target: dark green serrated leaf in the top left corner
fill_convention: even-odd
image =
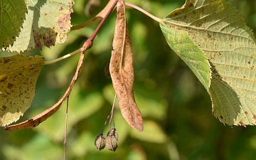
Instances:
[[[26,11],[25,0],[0,0],[0,50],[14,44]]]

